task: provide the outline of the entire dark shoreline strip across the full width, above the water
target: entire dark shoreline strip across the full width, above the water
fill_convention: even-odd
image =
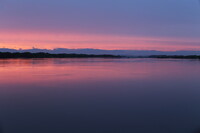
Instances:
[[[0,59],[19,58],[158,58],[158,59],[200,59],[200,55],[150,55],[150,56],[120,56],[120,55],[95,55],[95,54],[50,54],[50,53],[11,53],[0,52]]]

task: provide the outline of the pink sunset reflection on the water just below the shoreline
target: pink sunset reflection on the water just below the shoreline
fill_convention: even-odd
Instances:
[[[180,60],[156,59],[9,59],[0,60],[0,85],[58,84],[181,76],[194,69]],[[195,61],[192,64],[197,63]],[[198,71],[199,72],[199,71]],[[192,72],[188,73],[191,74]]]

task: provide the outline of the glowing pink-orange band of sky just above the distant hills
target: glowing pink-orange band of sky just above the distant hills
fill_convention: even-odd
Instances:
[[[116,35],[0,32],[0,48],[94,48],[127,50],[200,50],[200,40]]]

